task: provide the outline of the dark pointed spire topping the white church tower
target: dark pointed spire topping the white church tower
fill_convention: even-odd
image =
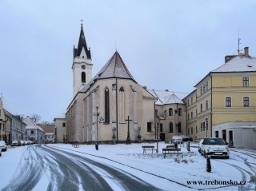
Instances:
[[[85,37],[85,34],[83,32],[82,23],[81,23],[81,31],[80,31],[79,41],[78,41],[78,48],[74,47],[74,58],[75,57],[80,57],[83,49],[86,52],[86,57],[88,59],[91,59],[90,48],[89,48],[89,50],[87,49],[86,37]]]

